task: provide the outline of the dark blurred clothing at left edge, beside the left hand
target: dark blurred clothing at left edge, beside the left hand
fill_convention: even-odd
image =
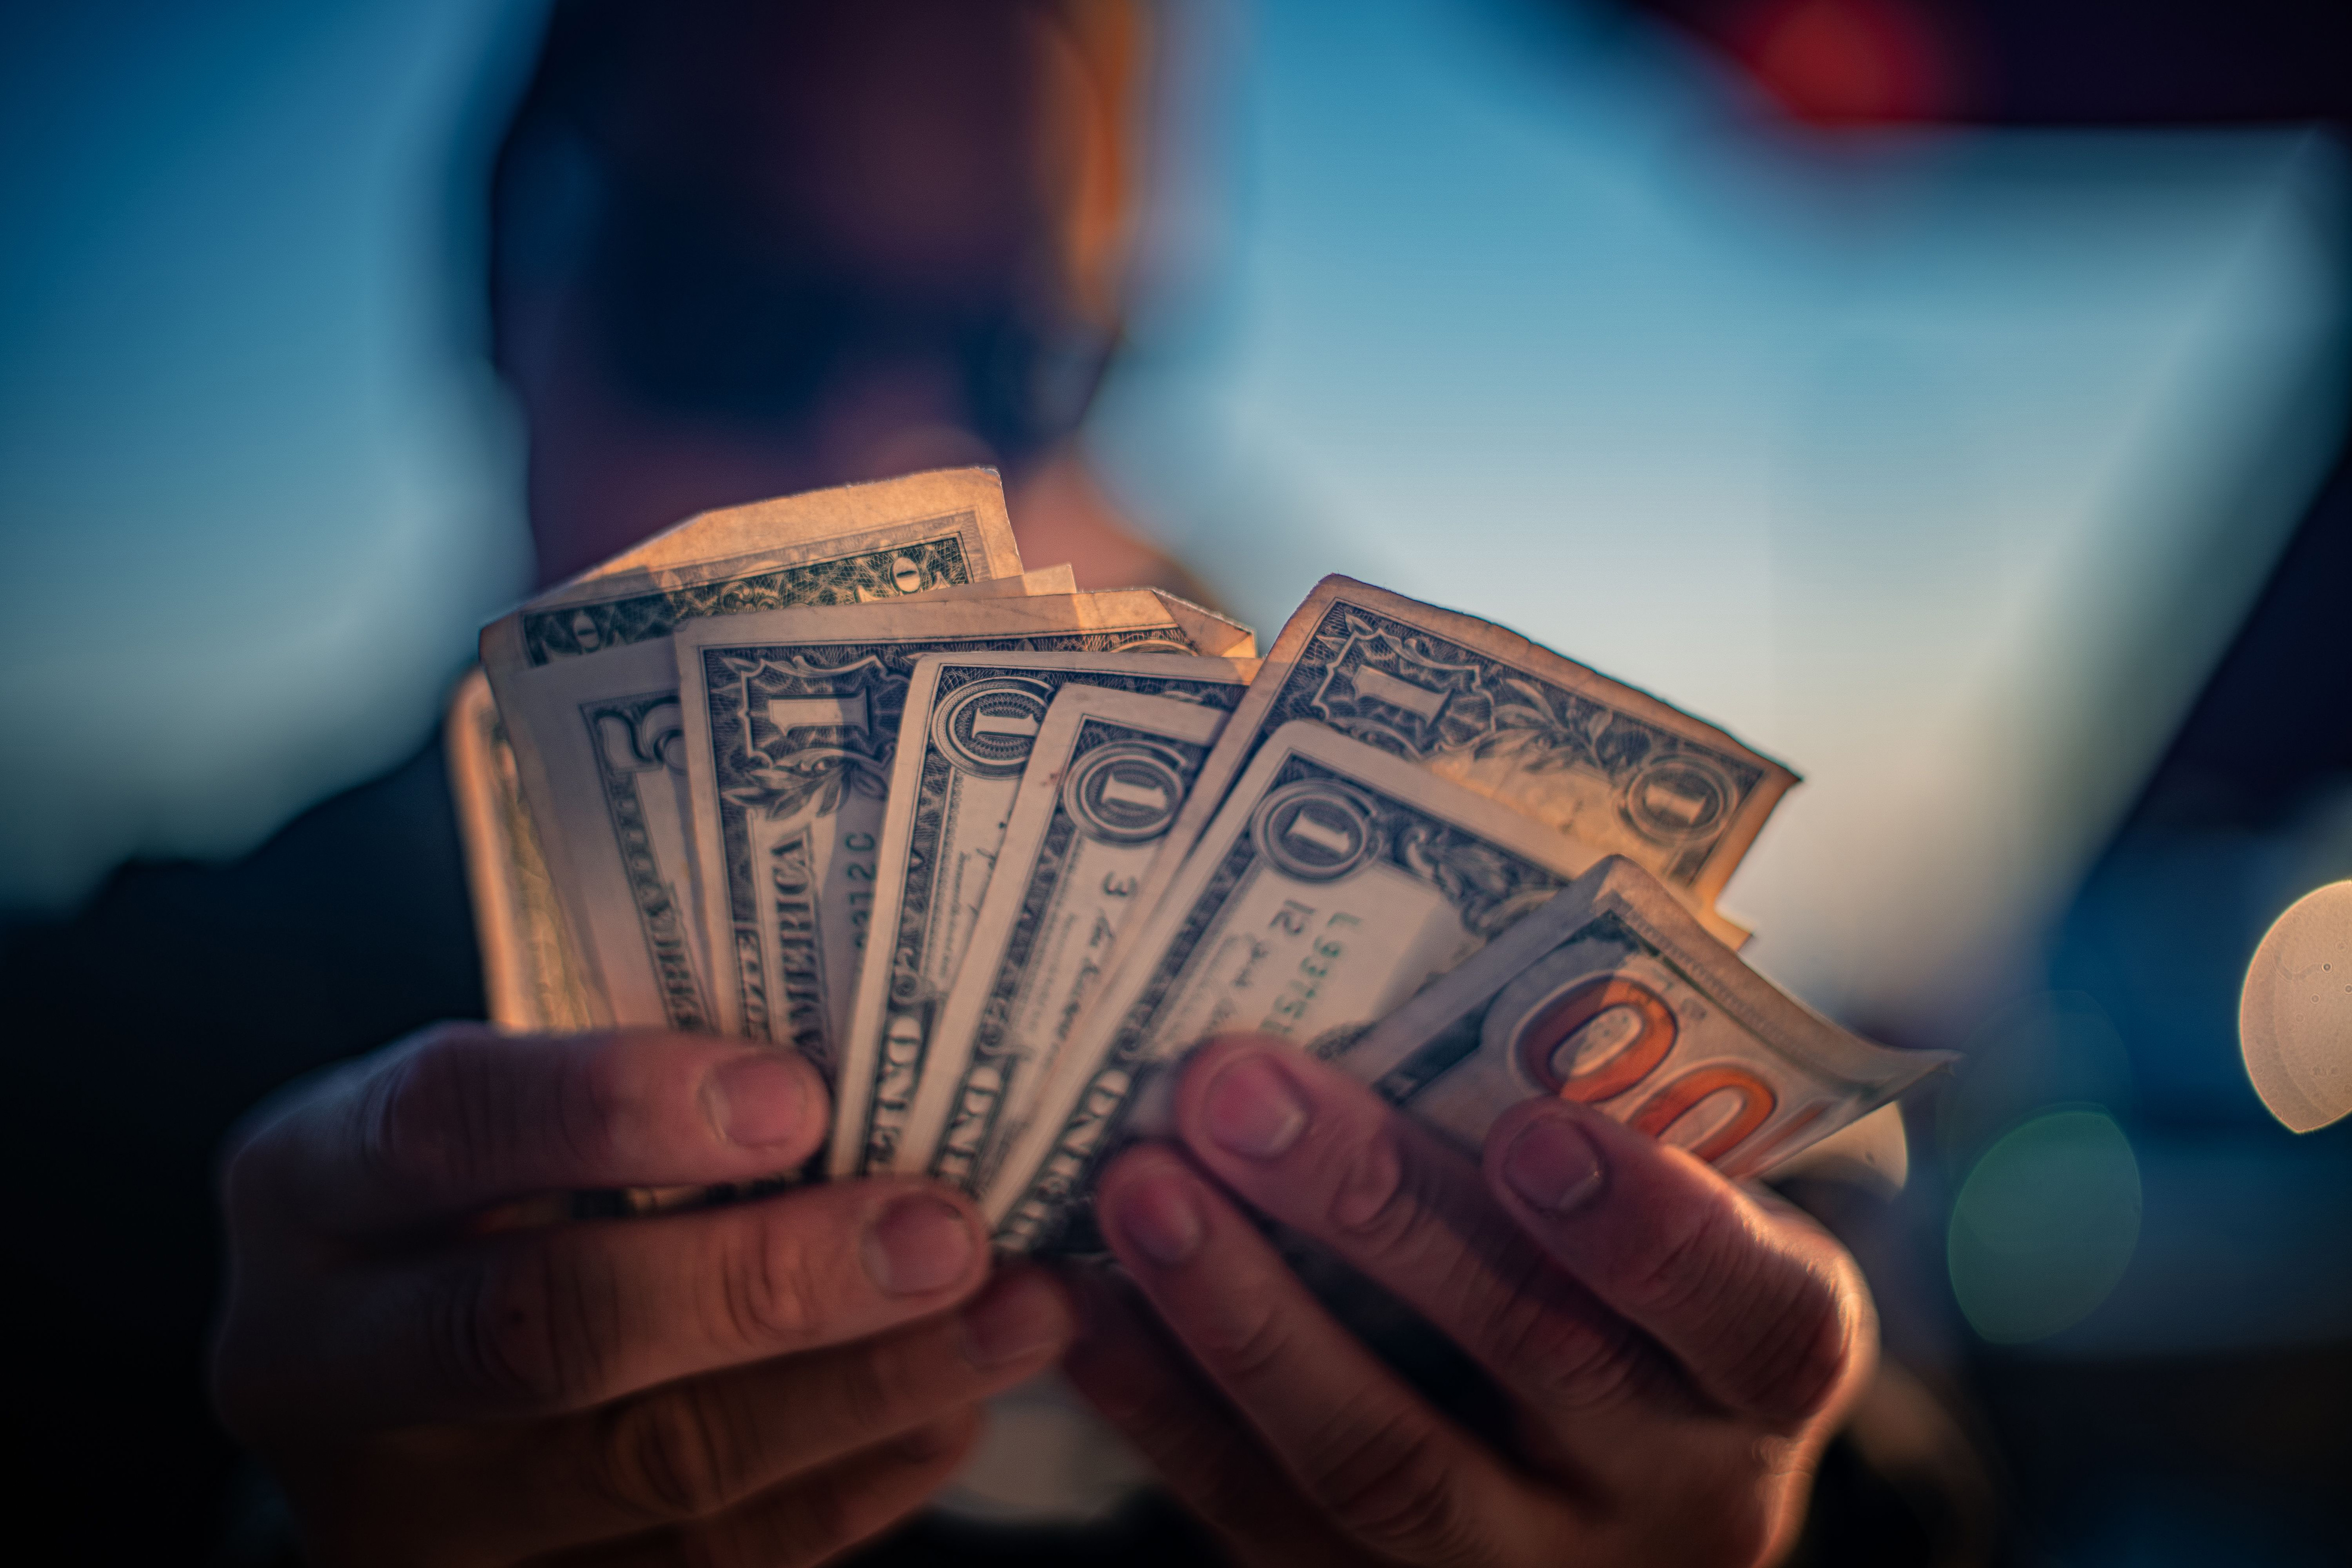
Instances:
[[[214,1157],[266,1093],[480,1018],[456,818],[430,745],[235,865],[127,865],[0,938],[16,1194],[12,1443],[75,1561],[205,1561],[235,1448],[202,1387]],[[28,1321],[31,1319],[31,1321]]]

